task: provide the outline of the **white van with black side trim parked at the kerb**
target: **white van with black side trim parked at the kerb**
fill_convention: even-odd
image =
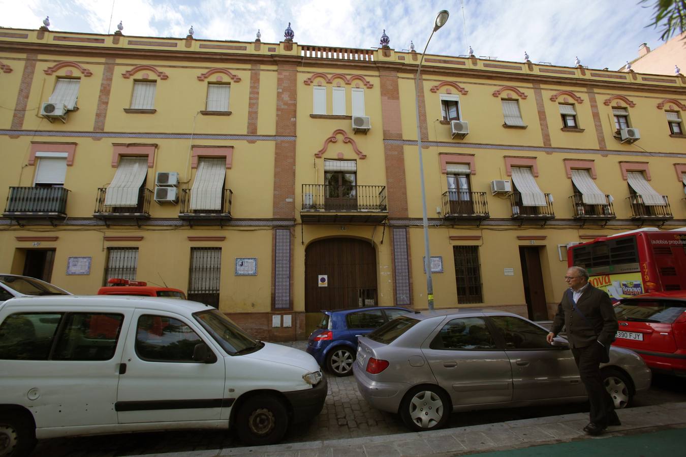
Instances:
[[[0,456],[13,457],[36,439],[189,428],[271,444],[327,396],[312,356],[211,306],[107,295],[1,304],[0,386]]]

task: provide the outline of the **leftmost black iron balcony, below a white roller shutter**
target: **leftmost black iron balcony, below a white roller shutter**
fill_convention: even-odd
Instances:
[[[22,227],[22,219],[47,219],[54,226],[56,219],[67,219],[67,195],[64,187],[10,187],[3,216]]]

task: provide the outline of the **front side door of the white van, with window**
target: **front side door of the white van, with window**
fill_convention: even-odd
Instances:
[[[212,361],[193,360],[204,343]],[[137,309],[119,375],[119,423],[218,420],[224,404],[224,356],[193,319]]]

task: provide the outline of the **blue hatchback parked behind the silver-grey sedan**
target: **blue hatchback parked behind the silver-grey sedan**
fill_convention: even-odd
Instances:
[[[353,373],[357,335],[368,334],[394,317],[416,312],[397,306],[322,311],[322,321],[307,339],[307,352],[336,376]]]

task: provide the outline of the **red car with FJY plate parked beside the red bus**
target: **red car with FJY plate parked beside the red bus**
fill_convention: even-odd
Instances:
[[[686,291],[651,292],[615,306],[615,346],[641,355],[654,371],[686,376]]]

